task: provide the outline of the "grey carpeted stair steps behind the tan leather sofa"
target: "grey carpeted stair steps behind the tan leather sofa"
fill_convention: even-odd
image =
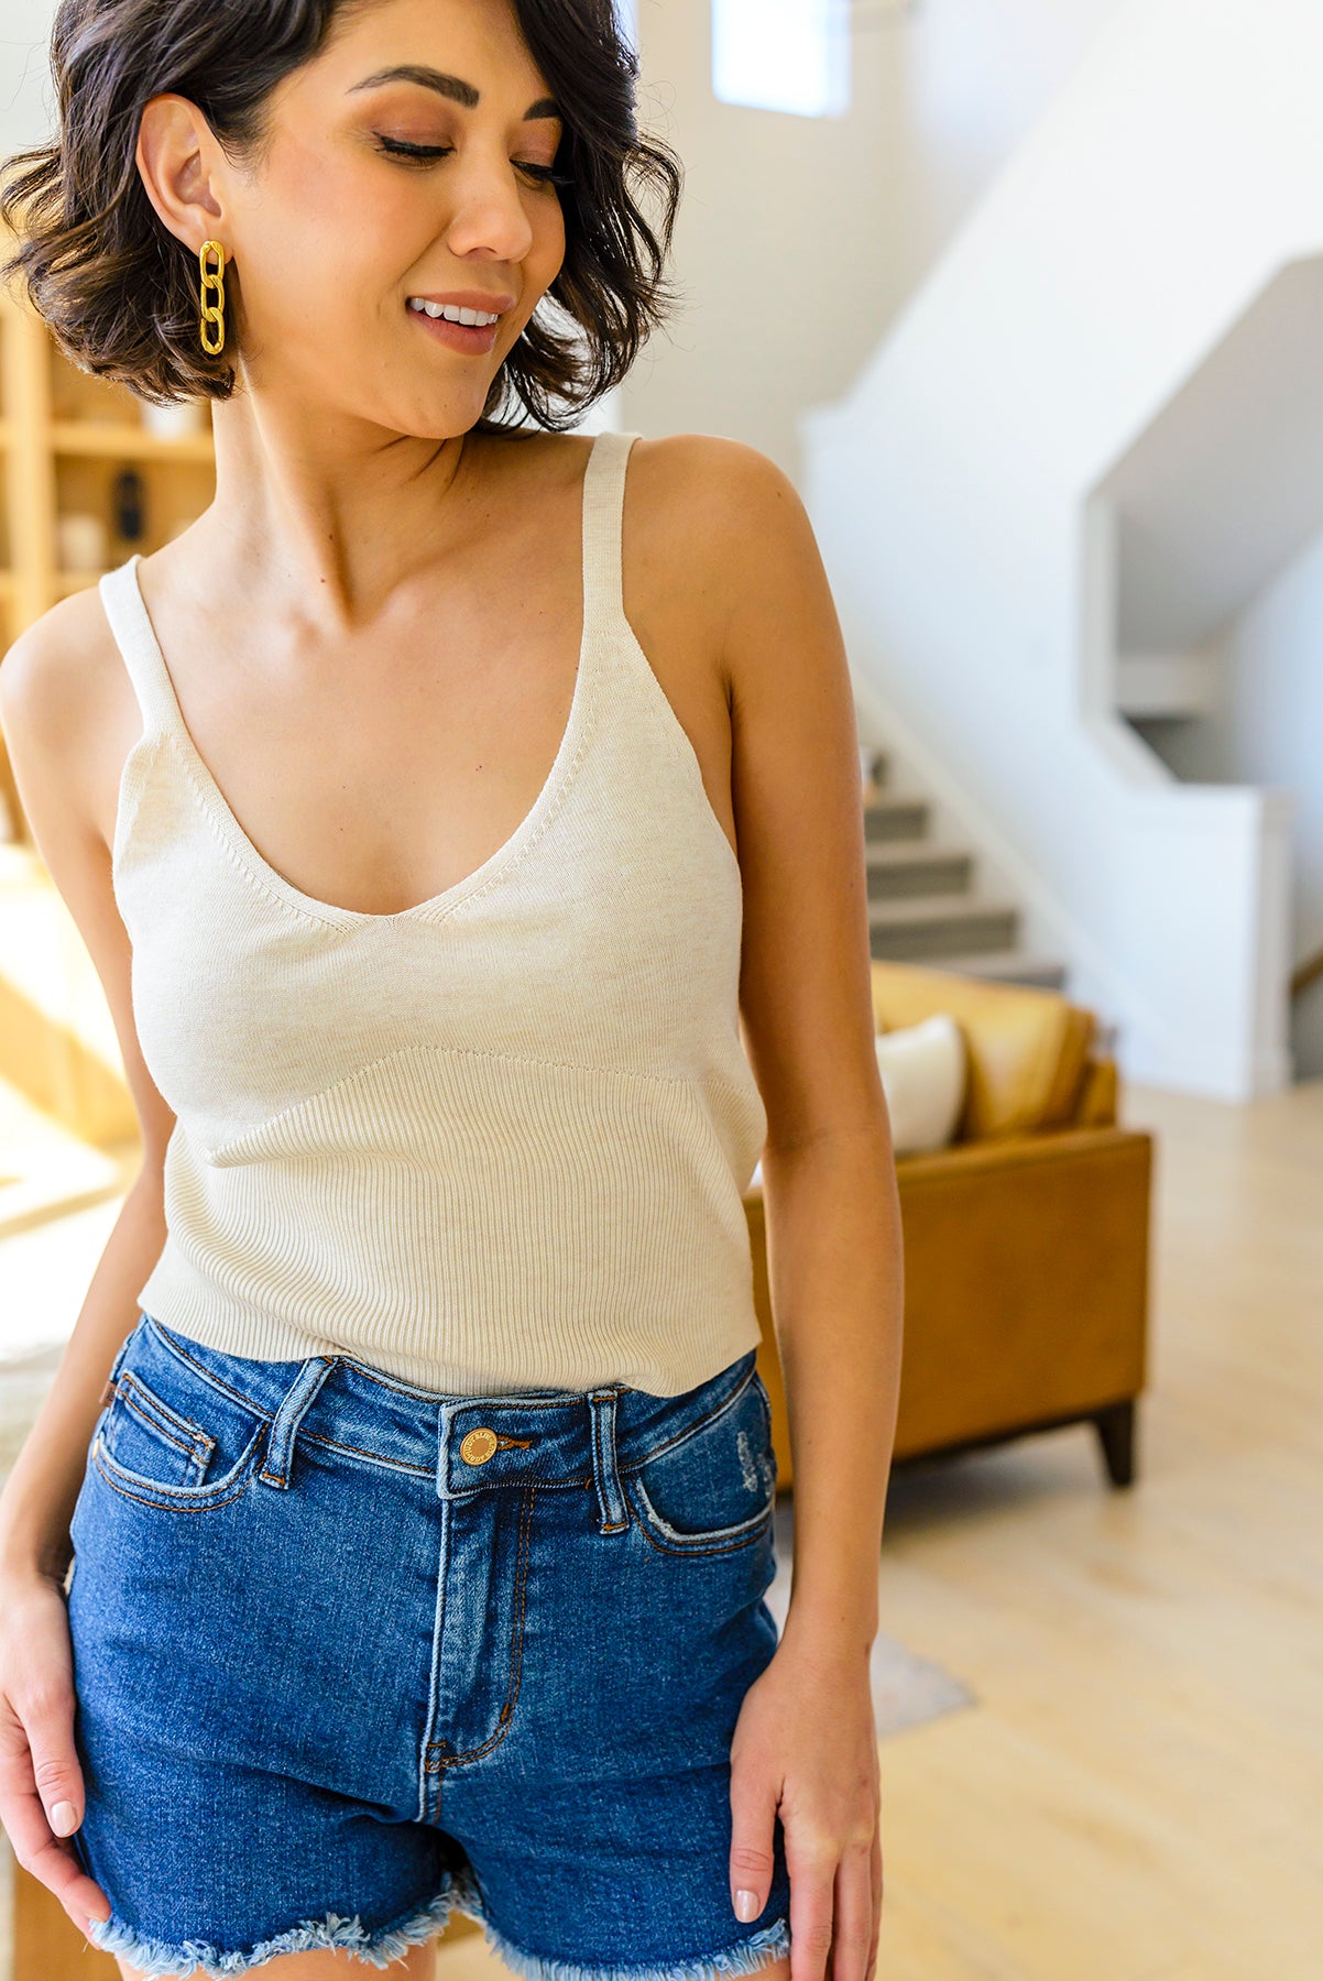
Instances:
[[[1020,945],[1020,905],[976,886],[968,846],[931,836],[929,798],[905,788],[891,753],[860,759],[871,955],[1062,990],[1066,965]]]

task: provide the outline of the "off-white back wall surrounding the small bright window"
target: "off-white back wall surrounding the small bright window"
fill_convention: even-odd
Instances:
[[[687,307],[624,426],[729,434],[800,479],[800,414],[867,365],[1117,0],[860,0],[850,113],[717,103],[709,0],[638,0],[644,123],[685,164]]]

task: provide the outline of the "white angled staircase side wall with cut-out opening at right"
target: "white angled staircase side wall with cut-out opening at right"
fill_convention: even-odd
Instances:
[[[1291,1076],[1293,788],[1178,784],[1107,705],[1091,495],[1323,248],[1315,0],[1127,0],[856,388],[806,422],[860,672],[1018,858],[1139,1080]],[[1093,616],[1091,616],[1093,614]]]

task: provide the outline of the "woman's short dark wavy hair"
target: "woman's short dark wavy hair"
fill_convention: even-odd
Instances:
[[[198,341],[198,258],[147,198],[135,162],[145,103],[170,91],[206,117],[226,156],[252,164],[269,137],[275,85],[313,59],[337,18],[372,0],[59,0],[51,75],[59,129],[0,162],[0,218],[22,279],[59,349],[139,398],[230,398],[232,363]],[[675,301],[663,275],[683,168],[636,119],[638,55],[614,0],[511,0],[523,38],[562,107],[557,170],[564,263],[491,380],[477,428],[566,430],[630,370]],[[638,194],[660,190],[650,224]],[[513,412],[513,420],[501,414]]]

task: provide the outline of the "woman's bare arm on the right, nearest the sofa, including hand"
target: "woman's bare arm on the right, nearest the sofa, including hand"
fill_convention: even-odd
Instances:
[[[766,1904],[786,1838],[794,1981],[865,1981],[881,1846],[869,1650],[901,1375],[901,1216],[877,1052],[854,691],[786,475],[693,436],[687,537],[731,707],[741,1022],[763,1094],[768,1278],[794,1466],[790,1609],[733,1745],[731,1888]]]

